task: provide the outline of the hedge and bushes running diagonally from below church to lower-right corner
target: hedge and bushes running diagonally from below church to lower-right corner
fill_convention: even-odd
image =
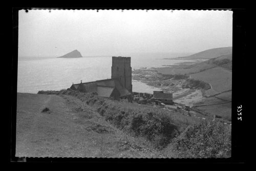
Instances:
[[[143,108],[91,93],[61,90],[39,91],[38,94],[70,95],[80,99],[96,108],[119,130],[147,139],[162,152],[162,157],[230,157],[230,125]]]

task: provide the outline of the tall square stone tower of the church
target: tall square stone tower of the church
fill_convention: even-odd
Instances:
[[[122,86],[132,93],[133,86],[131,57],[113,56],[111,69],[111,78],[119,79]]]

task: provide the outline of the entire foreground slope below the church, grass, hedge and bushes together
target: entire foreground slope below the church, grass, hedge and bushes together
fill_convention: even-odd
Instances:
[[[17,157],[230,156],[230,126],[221,122],[87,93],[40,93],[17,93]],[[183,141],[188,127],[195,135]],[[209,151],[211,142],[222,145]]]

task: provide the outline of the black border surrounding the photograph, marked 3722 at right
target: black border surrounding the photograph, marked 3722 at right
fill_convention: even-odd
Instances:
[[[233,11],[233,37],[232,37],[232,131],[231,131],[231,158],[18,158],[15,157],[16,142],[16,100],[17,100],[17,56],[18,56],[18,10],[30,10],[34,8],[12,8],[13,14],[13,41],[12,41],[12,102],[11,102],[11,162],[121,162],[121,163],[243,163],[244,153],[244,126],[246,115],[243,114],[242,122],[237,119],[237,106],[243,106],[243,113],[246,113],[245,93],[245,68],[246,68],[246,40],[245,40],[245,9],[217,9],[217,8],[155,8],[155,10],[231,10]],[[152,8],[36,8],[37,10],[152,10]],[[154,9],[154,8],[153,8]]]

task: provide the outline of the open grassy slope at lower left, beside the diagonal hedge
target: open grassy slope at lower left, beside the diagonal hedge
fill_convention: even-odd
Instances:
[[[50,112],[41,113],[46,107]],[[155,155],[144,148],[146,141],[127,136],[71,96],[17,93],[16,118],[16,157]]]

